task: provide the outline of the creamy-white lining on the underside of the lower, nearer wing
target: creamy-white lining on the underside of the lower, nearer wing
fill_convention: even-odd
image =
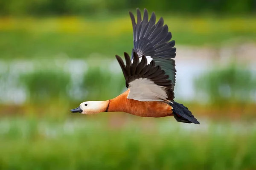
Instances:
[[[162,101],[168,97],[163,86],[154,84],[147,78],[135,79],[129,83],[130,92],[127,99],[145,101]]]

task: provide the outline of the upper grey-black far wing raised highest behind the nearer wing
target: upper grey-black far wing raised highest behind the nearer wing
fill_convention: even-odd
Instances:
[[[144,55],[147,58],[148,64],[153,60],[156,65],[159,65],[163,71],[172,80],[175,86],[175,58],[176,48],[175,41],[172,40],[172,34],[168,31],[168,26],[163,25],[161,17],[156,23],[156,15],[152,13],[148,21],[148,11],[144,9],[143,20],[139,8],[137,8],[137,23],[135,22],[134,14],[130,13],[133,34],[134,48],[132,52],[136,52],[140,59]],[[131,59],[134,59],[132,53]]]

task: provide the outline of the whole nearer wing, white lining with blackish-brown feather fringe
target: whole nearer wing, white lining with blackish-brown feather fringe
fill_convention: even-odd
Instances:
[[[127,98],[139,101],[173,100],[173,84],[166,72],[154,60],[148,64],[144,55],[140,60],[134,52],[133,57],[131,63],[129,55],[125,53],[125,65],[121,57],[116,55],[125,76],[126,87],[130,89]]]

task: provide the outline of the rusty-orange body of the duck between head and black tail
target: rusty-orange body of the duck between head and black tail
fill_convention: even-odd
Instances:
[[[109,100],[108,112],[126,112],[141,117],[172,116],[172,106],[166,102],[140,102],[127,99],[130,89]]]

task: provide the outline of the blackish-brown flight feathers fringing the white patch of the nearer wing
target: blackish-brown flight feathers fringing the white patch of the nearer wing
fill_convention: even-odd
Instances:
[[[139,60],[139,56],[136,52],[133,53],[133,56],[134,62],[131,63],[129,55],[125,53],[125,65],[121,57],[116,55],[116,59],[119,62],[125,77],[126,87],[129,88],[129,84],[135,79],[145,78],[151,80],[155,85],[164,89],[167,97],[162,100],[173,100],[173,84],[169,79],[169,75],[167,75],[159,65],[156,65],[154,60],[152,60],[150,64],[147,64],[147,59],[144,55],[142,56],[141,61]]]

